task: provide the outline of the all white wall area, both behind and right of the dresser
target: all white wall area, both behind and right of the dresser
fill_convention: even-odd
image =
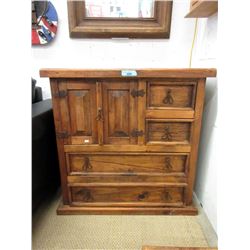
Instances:
[[[59,16],[55,40],[32,47],[32,77],[49,98],[49,81],[39,78],[40,68],[187,68],[195,19],[184,16],[189,0],[175,0],[170,39],[71,39],[68,34],[67,3],[52,0]],[[193,67],[216,66],[217,16],[199,19]],[[195,192],[216,229],[216,80],[208,79]]]

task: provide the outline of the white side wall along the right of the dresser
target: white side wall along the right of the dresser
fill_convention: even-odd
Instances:
[[[217,19],[198,19],[193,67],[216,67]],[[195,193],[217,232],[217,79],[208,78],[204,104]]]

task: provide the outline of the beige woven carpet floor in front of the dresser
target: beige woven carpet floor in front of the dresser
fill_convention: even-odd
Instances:
[[[57,194],[33,215],[38,249],[141,249],[143,245],[208,247],[198,216],[56,215]]]

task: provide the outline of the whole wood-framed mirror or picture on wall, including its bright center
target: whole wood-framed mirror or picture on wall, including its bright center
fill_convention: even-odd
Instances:
[[[169,38],[172,1],[68,1],[72,38]]]

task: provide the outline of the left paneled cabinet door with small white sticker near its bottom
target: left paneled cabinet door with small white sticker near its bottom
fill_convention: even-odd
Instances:
[[[64,143],[98,143],[95,82],[61,82],[58,89],[62,127],[59,136],[64,137]]]

